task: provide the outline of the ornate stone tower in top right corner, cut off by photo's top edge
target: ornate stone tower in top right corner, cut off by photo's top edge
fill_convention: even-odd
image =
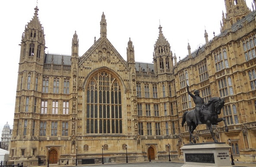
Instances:
[[[234,23],[251,12],[245,0],[225,0],[225,7],[226,17],[224,12],[222,12],[221,32],[230,29]]]

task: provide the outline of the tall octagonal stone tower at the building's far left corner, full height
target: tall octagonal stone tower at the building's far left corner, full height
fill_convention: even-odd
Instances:
[[[30,22],[25,26],[20,43],[20,60],[16,104],[14,111],[14,130],[10,153],[17,159],[25,159],[26,150],[39,143],[40,102],[42,97],[42,74],[44,68],[45,37],[44,28],[38,19],[38,8]],[[33,140],[32,142],[30,142]],[[33,153],[37,152],[33,148]],[[28,156],[32,156],[27,151]],[[22,159],[23,158],[23,159]]]

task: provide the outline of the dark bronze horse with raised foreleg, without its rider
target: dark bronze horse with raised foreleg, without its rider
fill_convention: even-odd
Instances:
[[[214,137],[211,125],[218,125],[218,122],[223,121],[225,124],[225,131],[228,132],[226,119],[225,118],[218,118],[218,115],[221,114],[221,109],[224,106],[224,99],[213,97],[211,98],[207,104],[203,105],[200,121],[202,124],[206,124],[208,129],[211,132],[211,136],[214,140],[214,143],[219,143],[216,138]],[[191,138],[193,138],[193,143],[196,143],[195,138],[193,137],[193,131],[196,129],[195,124],[196,114],[195,110],[185,111],[182,117],[181,126],[184,126],[184,123],[187,122],[188,125],[188,132],[190,134],[189,141],[192,143]]]

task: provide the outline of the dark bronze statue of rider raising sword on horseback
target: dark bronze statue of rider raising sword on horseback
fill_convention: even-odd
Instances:
[[[203,98],[200,97],[200,92],[198,90],[195,90],[195,95],[193,95],[191,92],[189,92],[187,85],[187,91],[188,94],[193,98],[193,101],[196,105],[194,110],[184,112],[181,122],[182,127],[184,126],[185,122],[188,125],[190,143],[196,143],[196,140],[193,137],[193,131],[199,124],[206,124],[211,132],[214,143],[219,143],[214,137],[211,125],[218,125],[218,122],[223,121],[225,124],[225,131],[229,131],[227,128],[226,119],[218,118],[218,115],[221,114],[221,109],[224,106],[224,99],[213,97],[208,101],[208,103],[205,104]],[[193,142],[191,141],[191,138],[193,139]]]

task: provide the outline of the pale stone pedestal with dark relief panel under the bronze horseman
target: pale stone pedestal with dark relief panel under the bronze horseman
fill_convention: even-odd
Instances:
[[[230,146],[226,143],[185,144],[182,167],[231,167]]]

